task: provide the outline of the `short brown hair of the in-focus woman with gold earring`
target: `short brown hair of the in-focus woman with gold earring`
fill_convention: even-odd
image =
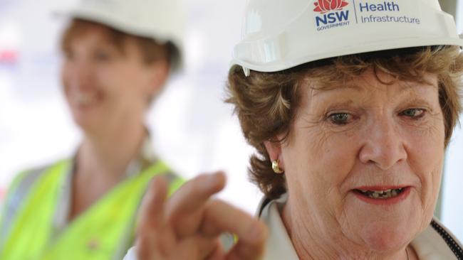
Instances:
[[[301,82],[309,78],[315,85],[334,86],[367,70],[373,70],[378,80],[379,72],[391,75],[393,82],[383,82],[387,85],[397,80],[424,82],[426,73],[437,75],[447,147],[462,112],[459,91],[463,54],[458,47],[432,46],[347,55],[279,72],[251,71],[249,77],[236,65],[229,72],[227,102],[234,104],[244,137],[257,150],[250,158],[249,172],[251,180],[266,197],[279,197],[286,192],[286,184],[283,175],[271,169],[264,141],[272,141],[279,134],[288,136],[300,102]]]

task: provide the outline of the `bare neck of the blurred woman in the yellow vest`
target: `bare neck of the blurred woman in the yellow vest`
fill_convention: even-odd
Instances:
[[[85,134],[73,174],[68,221],[84,212],[124,178],[147,131],[143,124],[126,124],[100,135]]]

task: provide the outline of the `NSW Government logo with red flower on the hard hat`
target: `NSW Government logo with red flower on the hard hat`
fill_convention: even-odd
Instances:
[[[347,0],[318,0],[313,4],[313,11],[318,13],[315,16],[317,31],[350,24],[349,10],[345,10],[349,5]]]

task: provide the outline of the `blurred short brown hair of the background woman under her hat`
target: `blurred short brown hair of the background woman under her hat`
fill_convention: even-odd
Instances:
[[[135,45],[137,45],[137,48],[139,48],[142,53],[143,62],[147,65],[155,63],[158,60],[166,60],[168,63],[171,63],[173,56],[177,55],[175,45],[170,42],[162,44],[157,43],[157,41],[152,38],[135,36],[116,30],[115,28],[105,26],[102,23],[87,21],[80,18],[74,18],[68,28],[66,28],[66,31],[64,31],[61,38],[61,50],[66,53],[66,50],[68,50],[69,45],[74,38],[81,36],[83,33],[88,31],[88,28],[95,26],[103,28],[103,30],[108,33],[110,42],[113,43],[121,53],[124,52],[125,40],[129,38],[135,40]]]

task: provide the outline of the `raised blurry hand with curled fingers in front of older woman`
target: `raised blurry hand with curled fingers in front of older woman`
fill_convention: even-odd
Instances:
[[[267,229],[246,212],[211,198],[224,185],[223,173],[199,175],[167,200],[165,180],[155,178],[142,202],[138,259],[259,259]],[[224,251],[219,242],[224,232],[239,237],[229,251]]]

